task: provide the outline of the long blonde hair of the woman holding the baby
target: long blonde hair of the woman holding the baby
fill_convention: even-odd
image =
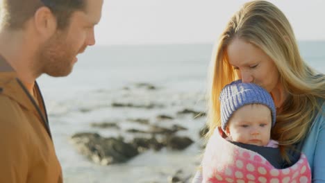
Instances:
[[[276,117],[272,139],[282,149],[289,148],[306,136],[317,111],[317,98],[325,98],[325,76],[303,62],[294,32],[283,12],[267,1],[251,1],[231,17],[219,37],[212,58],[209,111],[206,137],[221,125],[219,94],[222,88],[239,77],[228,62],[227,46],[234,39],[258,46],[274,61],[288,98]],[[285,153],[283,151],[283,153]]]

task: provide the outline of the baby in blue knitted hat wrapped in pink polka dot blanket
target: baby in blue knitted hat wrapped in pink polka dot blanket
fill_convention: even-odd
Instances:
[[[220,101],[222,128],[206,145],[203,182],[311,182],[306,156],[286,166],[270,139],[276,109],[265,89],[237,80],[224,87]]]

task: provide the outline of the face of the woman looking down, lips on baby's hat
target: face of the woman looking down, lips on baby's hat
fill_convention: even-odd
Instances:
[[[279,73],[269,56],[257,46],[235,38],[227,47],[228,61],[242,82],[253,82],[268,92],[278,85]]]

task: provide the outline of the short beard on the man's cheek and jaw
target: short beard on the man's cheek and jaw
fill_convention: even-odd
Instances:
[[[49,76],[67,76],[72,72],[74,59],[78,50],[74,50],[73,43],[67,42],[64,33],[56,33],[40,47],[36,67],[40,74]]]

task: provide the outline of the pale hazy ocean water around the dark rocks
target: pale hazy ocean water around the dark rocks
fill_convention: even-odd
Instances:
[[[47,105],[56,153],[65,182],[168,182],[176,172],[185,179],[199,165],[202,140],[199,130],[205,118],[179,115],[184,109],[206,110],[208,67],[212,44],[93,46],[82,55],[74,71],[65,78],[38,79]],[[325,71],[325,42],[299,42],[304,60]],[[139,87],[141,83],[156,89]],[[154,104],[152,109],[113,107],[112,103]],[[161,121],[158,115],[172,116]],[[162,127],[181,125],[177,132],[194,143],[185,150],[148,150],[124,164],[101,166],[79,154],[70,141],[77,132],[97,132],[103,137],[122,136],[126,141],[137,134],[130,128],[145,129],[129,119],[148,119]],[[95,128],[92,123],[114,122],[119,129]],[[188,181],[189,182],[189,181]]]

